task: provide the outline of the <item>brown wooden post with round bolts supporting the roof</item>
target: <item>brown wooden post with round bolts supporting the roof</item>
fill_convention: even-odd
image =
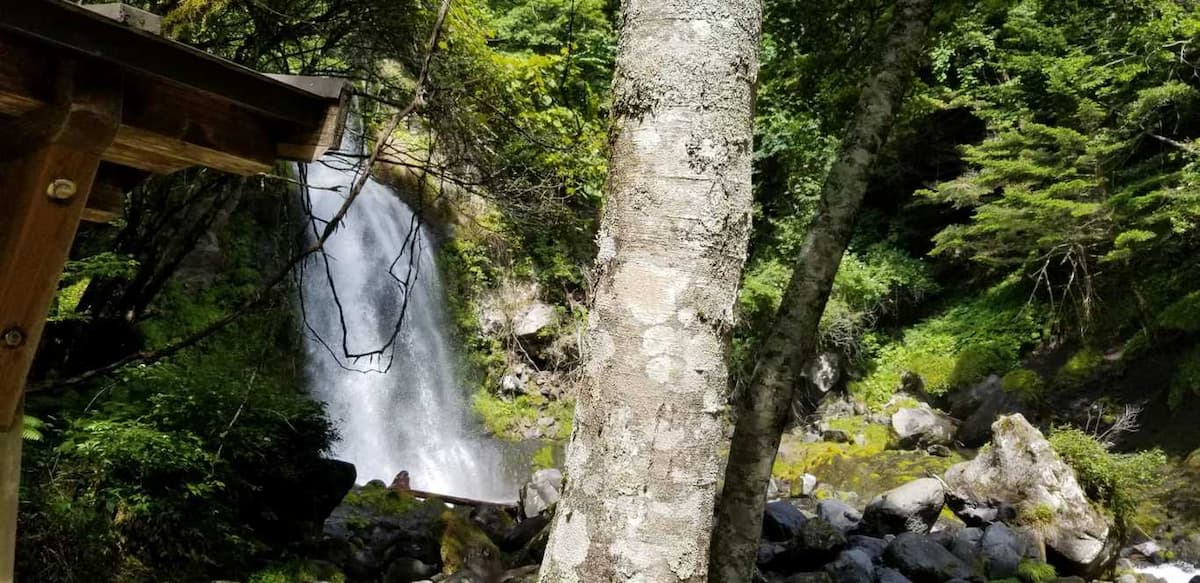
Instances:
[[[120,88],[85,77],[58,106],[65,115],[44,116],[55,120],[40,133],[50,143],[29,144],[28,155],[0,170],[0,583],[13,581],[25,377],[101,155],[121,118]],[[6,130],[16,131],[0,127],[0,139]]]

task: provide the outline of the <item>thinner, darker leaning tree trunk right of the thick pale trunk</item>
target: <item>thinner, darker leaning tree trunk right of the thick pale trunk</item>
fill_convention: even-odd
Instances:
[[[850,242],[876,155],[887,140],[922,54],[932,8],[934,0],[896,2],[882,59],[863,88],[775,324],[758,347],[751,380],[739,403],[716,518],[710,567],[710,578],[716,583],[750,581],[762,534],[767,482],[793,390],[802,367],[814,356],[821,313]]]

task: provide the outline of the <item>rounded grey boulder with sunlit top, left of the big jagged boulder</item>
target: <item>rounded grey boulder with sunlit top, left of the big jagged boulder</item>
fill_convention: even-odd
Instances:
[[[863,512],[863,531],[875,536],[900,533],[929,534],[942,512],[946,492],[932,477],[913,480],[884,492]]]

